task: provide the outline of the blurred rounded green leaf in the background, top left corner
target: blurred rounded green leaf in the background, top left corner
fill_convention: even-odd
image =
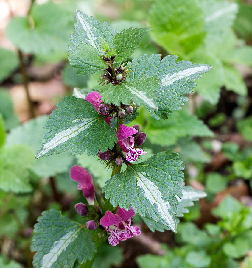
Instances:
[[[27,17],[13,18],[6,28],[7,38],[25,53],[65,52],[73,30],[72,10],[49,1],[34,4]]]

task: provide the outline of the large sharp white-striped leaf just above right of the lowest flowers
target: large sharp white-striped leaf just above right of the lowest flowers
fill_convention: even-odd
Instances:
[[[120,206],[140,216],[147,213],[156,221],[176,231],[176,196],[182,198],[177,181],[183,180],[183,162],[172,150],[153,155],[144,162],[131,165],[116,174],[103,188],[113,206]],[[176,196],[175,196],[176,195]]]

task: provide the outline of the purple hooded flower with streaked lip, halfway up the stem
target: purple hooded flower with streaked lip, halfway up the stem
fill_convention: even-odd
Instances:
[[[137,134],[138,130],[133,127],[127,127],[124,124],[120,124],[116,137],[118,144],[122,148],[122,151],[127,153],[126,160],[129,162],[135,162],[139,155],[145,155],[146,152],[139,148],[134,148],[135,139],[134,134]]]

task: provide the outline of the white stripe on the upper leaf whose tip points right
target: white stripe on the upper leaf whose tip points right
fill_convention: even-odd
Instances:
[[[205,72],[211,69],[209,65],[202,65],[197,67],[191,67],[183,71],[179,71],[172,74],[166,74],[161,78],[161,86],[167,86],[173,84],[175,81],[189,77],[192,74],[198,74],[200,72]]]

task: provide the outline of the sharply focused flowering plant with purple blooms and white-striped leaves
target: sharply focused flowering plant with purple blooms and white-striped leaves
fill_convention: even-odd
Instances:
[[[72,155],[87,150],[88,156],[98,155],[111,167],[112,175],[98,193],[88,170],[71,168],[71,179],[85,197],[75,205],[83,218],[72,221],[54,209],[42,213],[31,247],[37,251],[33,264],[41,268],[68,268],[77,260],[82,268],[91,267],[104,241],[116,246],[140,235],[139,227],[131,225],[135,214],[152,231],[176,232],[177,217],[187,212],[192,201],[205,196],[184,186],[184,165],[172,150],[141,160],[148,156],[143,149],[146,134],[132,121],[140,105],[156,120],[167,119],[186,102],[182,95],[195,87],[193,81],[211,66],[176,62],[175,55],[161,60],[160,54],[128,62],[127,57],[150,29],[118,32],[78,10],[76,21],[69,46],[70,64],[78,74],[102,72],[99,76],[106,86],[87,96],[79,91],[77,97],[67,96],[57,104],[45,124],[49,131],[36,158],[69,149]]]

